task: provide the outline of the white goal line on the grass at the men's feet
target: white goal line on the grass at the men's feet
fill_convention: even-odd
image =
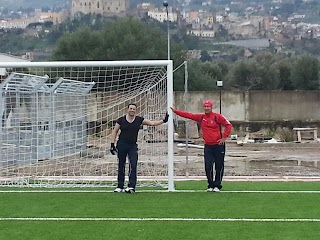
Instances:
[[[175,191],[168,191],[168,190],[139,190],[136,193],[196,193],[196,192],[206,192],[206,190],[175,190]],[[0,193],[113,193],[113,190],[2,190]],[[314,190],[305,190],[305,191],[285,191],[285,190],[238,190],[238,191],[221,191],[219,193],[213,193],[213,194],[223,194],[223,193],[280,193],[280,194],[286,194],[286,193],[315,193],[319,194],[320,191],[314,191]],[[118,194],[118,193],[115,193]],[[211,193],[208,193],[211,194]]]

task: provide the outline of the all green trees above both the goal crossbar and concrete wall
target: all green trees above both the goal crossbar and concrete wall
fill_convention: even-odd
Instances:
[[[174,68],[187,59],[188,48],[172,37],[171,59]],[[57,42],[52,60],[154,60],[167,59],[167,35],[164,29],[138,18],[109,20],[100,30],[82,28],[64,34]],[[260,52],[253,58],[236,62],[188,62],[188,89],[239,90],[318,90],[319,60],[312,56],[280,56]],[[174,72],[174,89],[184,90],[184,69]]]

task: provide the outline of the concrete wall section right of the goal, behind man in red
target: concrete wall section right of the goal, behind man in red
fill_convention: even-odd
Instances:
[[[219,91],[189,92],[188,111],[203,112],[210,99],[219,112]],[[320,91],[221,91],[222,114],[230,121],[320,121]],[[175,92],[175,108],[184,110],[184,92]]]

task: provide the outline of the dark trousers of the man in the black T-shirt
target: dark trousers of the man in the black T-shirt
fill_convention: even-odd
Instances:
[[[125,167],[129,158],[129,183],[128,187],[135,188],[137,184],[138,145],[117,143],[118,149],[118,188],[124,187]]]

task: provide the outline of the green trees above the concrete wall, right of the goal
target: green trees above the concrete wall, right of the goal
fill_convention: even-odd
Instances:
[[[197,71],[207,73],[209,75],[207,78],[212,80],[223,80],[226,89],[245,91],[320,89],[319,59],[312,56],[285,57],[261,52],[253,58],[234,63],[218,61],[200,63]],[[199,79],[201,75],[198,74]]]

